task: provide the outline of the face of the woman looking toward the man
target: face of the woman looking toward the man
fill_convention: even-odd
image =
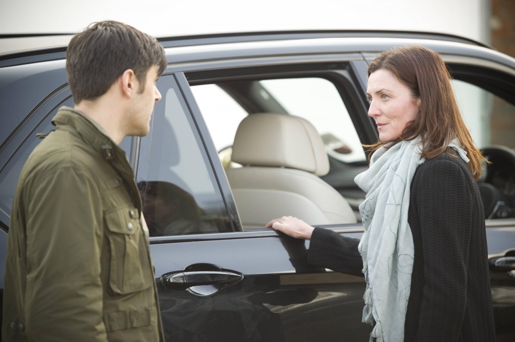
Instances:
[[[379,139],[383,142],[400,137],[408,122],[415,120],[420,99],[413,98],[407,86],[390,71],[380,69],[368,78],[368,116],[375,120]]]

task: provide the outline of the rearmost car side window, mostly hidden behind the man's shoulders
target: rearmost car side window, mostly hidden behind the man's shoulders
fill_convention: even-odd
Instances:
[[[73,99],[71,97],[68,98],[45,116],[45,119],[41,121],[25,139],[23,144],[12,156],[0,174],[0,209],[9,217],[11,215],[14,192],[16,190],[16,185],[18,184],[18,178],[20,177],[22,168],[25,165],[25,161],[27,161],[32,150],[40,143],[41,138],[38,137],[38,135],[48,134],[50,131],[55,130],[55,126],[52,124],[52,119],[57,114],[57,111],[61,106],[73,107]],[[131,137],[126,137],[120,143],[120,146],[125,150],[127,156],[129,156],[130,153],[131,139]]]

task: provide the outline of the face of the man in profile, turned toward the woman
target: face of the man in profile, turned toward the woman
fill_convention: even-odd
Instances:
[[[126,136],[142,137],[150,131],[150,117],[154,110],[154,104],[161,100],[161,93],[156,86],[157,79],[158,68],[153,65],[148,69],[144,82],[138,82],[138,89],[132,97],[132,106],[124,121]]]

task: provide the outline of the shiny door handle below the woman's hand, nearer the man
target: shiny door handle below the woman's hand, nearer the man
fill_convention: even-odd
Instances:
[[[161,283],[170,290],[185,290],[193,286],[227,286],[243,278],[243,275],[227,271],[171,272],[161,276]]]

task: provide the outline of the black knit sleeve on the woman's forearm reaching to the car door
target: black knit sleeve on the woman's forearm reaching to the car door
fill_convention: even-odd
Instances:
[[[336,272],[363,277],[363,259],[357,249],[358,239],[351,239],[323,228],[315,228],[311,236],[307,263]]]

